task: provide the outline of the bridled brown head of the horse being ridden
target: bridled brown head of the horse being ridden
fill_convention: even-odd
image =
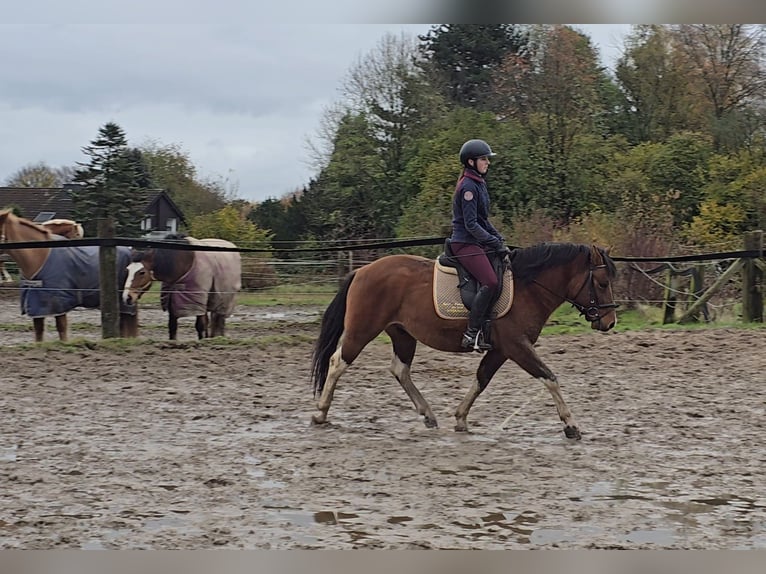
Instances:
[[[592,329],[609,331],[617,324],[617,304],[612,294],[612,279],[617,276],[608,250],[590,246],[584,280],[570,303],[590,321]]]

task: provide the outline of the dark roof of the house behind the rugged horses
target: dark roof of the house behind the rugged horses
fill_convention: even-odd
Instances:
[[[0,187],[0,209],[18,208],[21,217],[34,221],[48,219],[72,219],[72,197],[70,190],[73,186],[64,187]],[[166,191],[161,189],[142,190],[146,198],[144,209],[149,210],[161,197],[170,203],[181,220],[186,218]]]

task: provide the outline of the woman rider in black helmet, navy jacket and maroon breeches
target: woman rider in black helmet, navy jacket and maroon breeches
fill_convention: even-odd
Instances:
[[[463,173],[457,181],[452,199],[452,235],[450,247],[453,255],[479,282],[479,290],[468,315],[468,329],[461,345],[475,351],[486,351],[492,346],[484,341],[482,324],[489,314],[489,306],[498,288],[498,278],[489,253],[505,249],[503,237],[489,221],[489,191],[484,178],[489,170],[489,158],[495,156],[484,140],[468,140],[460,148]]]

